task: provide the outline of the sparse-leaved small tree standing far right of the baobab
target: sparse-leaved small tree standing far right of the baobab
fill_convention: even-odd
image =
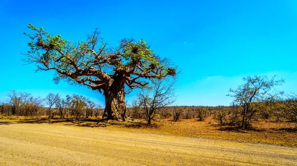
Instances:
[[[275,100],[276,96],[281,93],[275,93],[274,87],[282,85],[283,79],[276,79],[273,76],[268,79],[267,76],[254,75],[247,76],[243,80],[245,83],[237,87],[237,89],[230,89],[231,94],[227,95],[232,98],[234,105],[240,105],[242,109],[242,122],[240,127],[247,129],[251,127],[251,118],[261,109],[263,102]]]

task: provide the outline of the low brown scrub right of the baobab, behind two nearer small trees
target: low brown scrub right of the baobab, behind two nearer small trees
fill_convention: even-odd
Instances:
[[[283,100],[267,103],[254,103],[262,105],[262,109],[253,114],[251,119],[273,119],[276,122],[289,121],[297,122],[297,100]],[[222,125],[239,125],[242,120],[242,107],[234,106],[170,106],[157,112],[158,118],[169,118],[174,121],[180,119],[196,118],[203,121],[206,117],[212,116]],[[127,108],[127,114],[131,118],[144,118],[142,109],[134,105]]]

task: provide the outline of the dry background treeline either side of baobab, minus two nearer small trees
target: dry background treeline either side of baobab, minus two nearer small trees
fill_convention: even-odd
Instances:
[[[93,101],[76,94],[61,98],[58,94],[51,94],[46,98],[35,98],[29,93],[15,90],[7,93],[8,99],[0,102],[0,113],[17,116],[48,116],[48,118],[101,118],[103,109]],[[47,106],[47,107],[45,107]],[[297,95],[293,94],[284,100],[270,102],[252,102],[250,106],[257,106],[257,111],[251,119],[273,119],[276,122],[297,123]],[[240,105],[233,106],[167,106],[156,112],[154,119],[196,118],[203,121],[212,116],[222,125],[239,126],[243,120],[244,110]],[[127,116],[133,119],[146,119],[146,111],[134,102],[127,107]]]

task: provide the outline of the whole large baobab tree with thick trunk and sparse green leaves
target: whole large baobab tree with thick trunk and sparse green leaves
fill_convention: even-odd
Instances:
[[[144,40],[124,38],[113,48],[100,37],[98,29],[86,41],[72,42],[42,27],[29,24],[28,28],[33,33],[24,34],[32,41],[23,61],[36,64],[36,71],[56,71],[55,83],[64,79],[103,92],[103,119],[125,121],[125,94],[146,87],[150,78],[176,74],[177,67],[157,56]]]

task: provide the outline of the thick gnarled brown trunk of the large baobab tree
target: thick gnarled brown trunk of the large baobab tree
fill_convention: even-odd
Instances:
[[[104,92],[105,109],[102,119],[125,121],[125,84],[123,82],[113,82],[111,87]]]

